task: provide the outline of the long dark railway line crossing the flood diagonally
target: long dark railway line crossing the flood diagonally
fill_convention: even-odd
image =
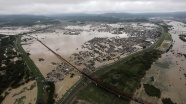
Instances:
[[[91,82],[93,82],[96,86],[99,86],[100,88],[102,89],[105,89],[107,90],[108,92],[110,93],[113,93],[115,95],[117,95],[119,98],[125,98],[125,99],[129,99],[129,100],[132,100],[132,101],[135,101],[137,103],[140,103],[140,104],[151,104],[147,101],[144,101],[142,99],[139,99],[139,98],[135,98],[135,97],[131,97],[129,94],[126,94],[126,93],[123,93],[119,90],[117,90],[116,88],[114,88],[113,86],[111,85],[107,85],[105,86],[105,84],[103,84],[102,82],[98,81],[97,79],[95,78],[92,78],[91,76],[89,76],[88,74],[84,73],[83,71],[79,70],[77,67],[75,67],[74,65],[72,65],[70,62],[68,62],[66,59],[64,59],[63,57],[61,57],[59,54],[57,54],[56,52],[54,52],[51,48],[49,48],[46,44],[44,44],[41,40],[39,40],[38,38],[36,37],[33,37],[33,36],[30,36],[30,35],[26,35],[26,36],[29,36],[29,37],[32,37],[34,39],[36,39],[38,42],[40,42],[43,46],[45,46],[48,50],[50,50],[53,54],[55,54],[61,61],[64,61],[66,62],[67,64],[69,64],[70,66],[72,66],[75,70],[77,70],[79,73],[81,73],[83,76],[85,76],[87,79],[89,79]]]

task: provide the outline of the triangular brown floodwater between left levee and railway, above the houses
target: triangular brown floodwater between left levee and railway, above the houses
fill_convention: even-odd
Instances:
[[[61,63],[61,60],[36,40],[33,40],[32,44],[22,45],[22,47],[25,51],[30,53],[30,58],[40,69],[44,77],[55,68],[55,66],[51,64],[52,62]],[[39,61],[39,58],[43,58],[44,61]]]

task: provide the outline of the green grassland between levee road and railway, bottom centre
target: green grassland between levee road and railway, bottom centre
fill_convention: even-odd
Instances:
[[[119,99],[118,96],[99,88],[95,84],[89,84],[84,90],[81,90],[78,99],[88,101],[91,104],[129,104],[129,100]]]

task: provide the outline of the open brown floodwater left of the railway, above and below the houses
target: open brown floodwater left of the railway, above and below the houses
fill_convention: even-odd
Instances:
[[[27,38],[27,36],[24,36],[24,38]],[[46,77],[49,72],[57,67],[55,65],[52,65],[52,62],[63,62],[37,40],[34,39],[32,40],[32,42],[32,44],[23,45],[23,48],[25,49],[25,51],[30,53],[30,58],[39,68],[42,75]],[[44,61],[39,61],[39,58],[43,58]],[[58,95],[58,97],[55,98],[56,101],[58,101],[68,91],[68,89],[71,88],[71,86],[73,86],[80,79],[80,75],[77,72],[72,71],[71,73],[75,73],[74,78],[70,78],[70,74],[68,74],[63,81],[57,81],[55,83],[55,94]]]

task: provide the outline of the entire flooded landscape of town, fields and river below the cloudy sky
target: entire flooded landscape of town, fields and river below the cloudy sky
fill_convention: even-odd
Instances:
[[[0,14],[0,104],[185,104],[176,13]]]

